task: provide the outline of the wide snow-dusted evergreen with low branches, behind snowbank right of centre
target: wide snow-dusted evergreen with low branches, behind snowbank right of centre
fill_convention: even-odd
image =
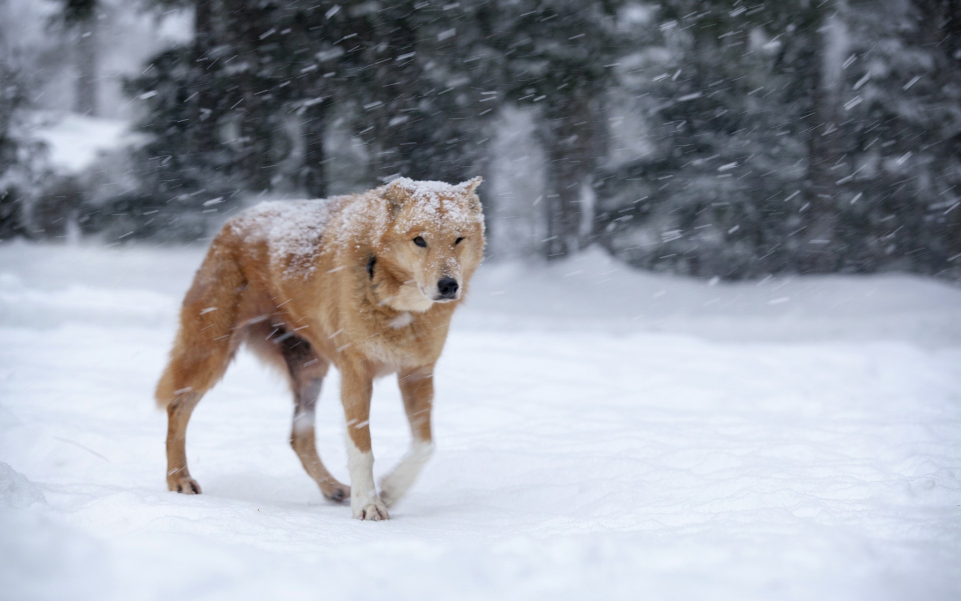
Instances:
[[[786,101],[777,45],[732,24],[743,13],[673,4],[657,21],[663,45],[627,59],[622,85],[653,152],[606,173],[597,228],[632,263],[748,277],[792,261],[806,210],[801,109]]]

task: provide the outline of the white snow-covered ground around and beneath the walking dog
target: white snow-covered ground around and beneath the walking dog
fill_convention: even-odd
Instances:
[[[486,265],[438,452],[362,523],[248,355],[191,422],[205,494],[165,490],[151,389],[201,252],[0,246],[0,598],[961,596],[958,288]],[[319,446],[346,478],[336,389]],[[389,380],[372,428],[383,473],[407,442]]]

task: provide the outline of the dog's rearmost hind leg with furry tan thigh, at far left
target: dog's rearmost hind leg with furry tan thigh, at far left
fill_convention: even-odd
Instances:
[[[242,336],[237,308],[246,283],[216,242],[197,271],[181,309],[181,325],[160,383],[157,403],[167,410],[167,488],[199,494],[186,466],[186,427],[204,393],[227,370]]]

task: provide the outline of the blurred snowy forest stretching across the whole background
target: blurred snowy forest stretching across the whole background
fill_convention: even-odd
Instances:
[[[961,1],[24,2],[0,0],[0,238],[190,241],[259,198],[483,175],[494,256],[961,279]],[[132,4],[188,31],[111,46]],[[51,81],[138,134],[58,171]]]

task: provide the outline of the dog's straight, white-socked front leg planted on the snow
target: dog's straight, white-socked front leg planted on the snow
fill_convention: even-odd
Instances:
[[[370,444],[371,376],[355,365],[341,368],[340,400],[347,418],[347,468],[351,474],[351,510],[357,519],[389,519],[374,488],[374,453]]]

